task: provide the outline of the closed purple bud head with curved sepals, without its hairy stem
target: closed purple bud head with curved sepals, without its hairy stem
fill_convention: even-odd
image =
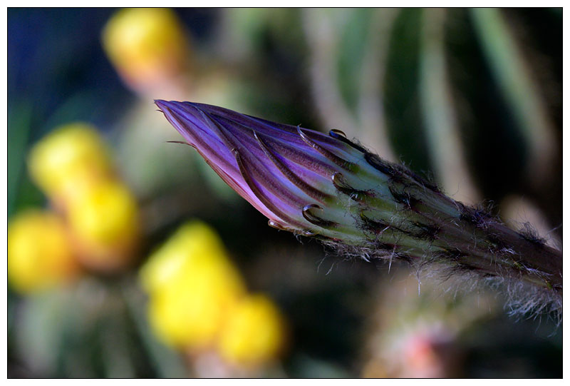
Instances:
[[[388,176],[378,173],[366,161],[366,151],[341,131],[326,136],[201,103],[155,103],[209,166],[269,218],[269,225],[326,238],[363,236],[361,218],[347,208],[363,195],[374,195],[370,181],[362,178],[381,187]]]

